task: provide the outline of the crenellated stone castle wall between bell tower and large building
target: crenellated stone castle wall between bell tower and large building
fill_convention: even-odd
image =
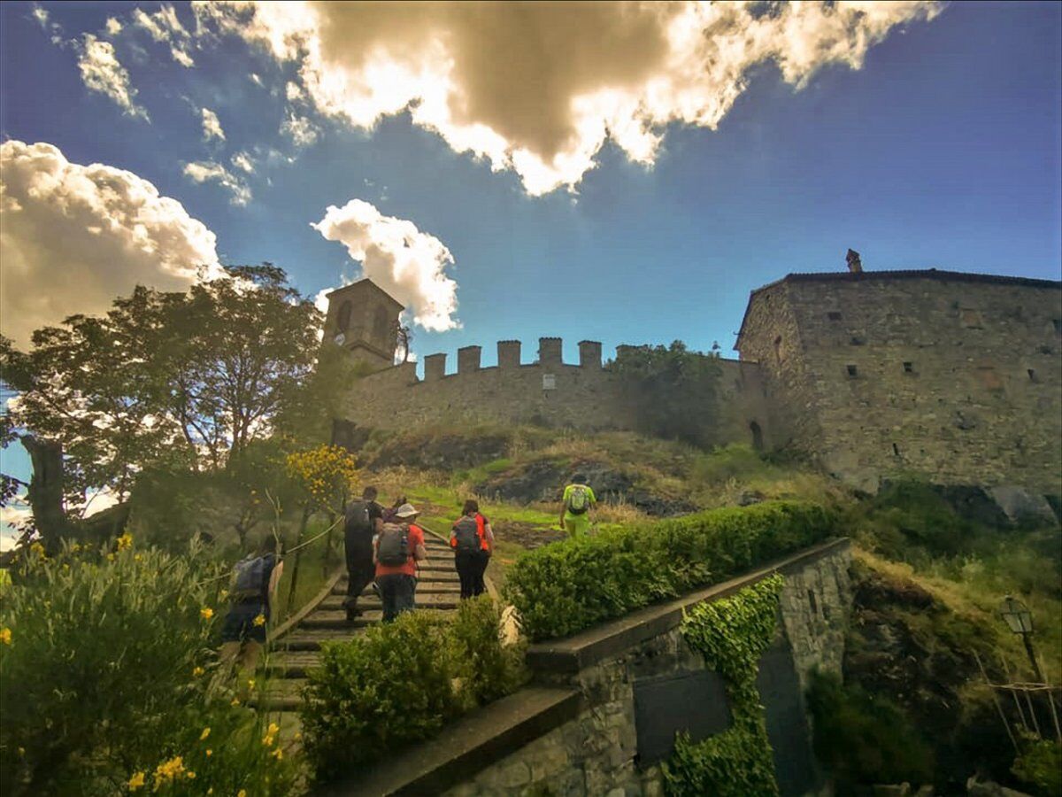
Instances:
[[[634,429],[635,410],[620,377],[604,368],[601,343],[579,343],[579,364],[562,358],[561,338],[541,338],[538,359],[520,363],[520,342],[498,341],[498,364],[482,368],[480,346],[457,353],[457,372],[446,373],[446,354],[424,358],[424,378],[407,362],[362,378],[346,403],[358,426],[397,429],[426,423],[500,422],[581,430]],[[759,369],[753,362],[719,360],[716,401],[706,400],[701,422],[717,442],[770,445],[771,422]],[[753,434],[753,424],[757,429]]]

